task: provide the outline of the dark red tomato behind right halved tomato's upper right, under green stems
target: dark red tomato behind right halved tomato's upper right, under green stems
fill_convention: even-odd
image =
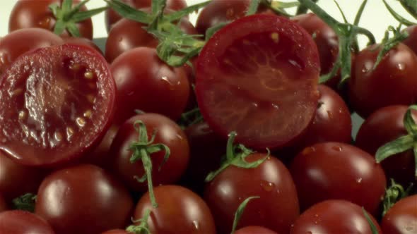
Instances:
[[[295,16],[291,20],[294,20],[313,36],[312,38],[316,42],[317,49],[319,50],[320,74],[324,75],[329,73],[339,54],[339,39],[336,32],[314,13]],[[329,80],[326,85],[336,88],[339,81],[340,75],[337,75]]]

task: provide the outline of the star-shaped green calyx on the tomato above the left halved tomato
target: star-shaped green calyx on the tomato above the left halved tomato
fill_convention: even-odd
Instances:
[[[57,35],[61,35],[65,30],[68,30],[71,36],[81,37],[80,31],[78,30],[76,23],[79,23],[83,20],[87,20],[88,18],[102,13],[102,11],[105,11],[108,8],[107,6],[105,6],[90,11],[81,11],[81,7],[86,5],[88,1],[90,0],[81,1],[74,7],[72,6],[72,0],[62,1],[61,6],[59,6],[59,4],[49,5],[49,9],[52,11],[55,18],[57,19],[57,22],[55,23],[54,27],[54,33]]]

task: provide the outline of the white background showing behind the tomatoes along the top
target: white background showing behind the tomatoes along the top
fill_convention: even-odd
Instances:
[[[8,15],[13,8],[13,5],[16,3],[17,0],[0,0],[0,37],[4,36],[8,32]],[[25,0],[25,1],[42,1],[42,0]],[[202,2],[204,0],[186,0],[187,3],[196,4]],[[228,0],[228,1],[237,1],[237,0]],[[281,1],[289,1],[289,0],[281,0]],[[358,10],[358,6],[360,6],[362,0],[339,0],[339,4],[341,8],[345,12],[348,20],[353,22],[355,17],[356,11]],[[411,20],[411,17],[405,13],[404,9],[401,8],[397,0],[387,0],[387,2],[393,6],[402,16],[406,16],[406,18]],[[88,2],[87,7],[89,9],[96,8],[99,6],[105,6],[105,2],[102,0],[90,0]],[[322,6],[331,16],[334,18],[341,20],[341,14],[336,8],[333,0],[319,0],[319,6]],[[196,16],[191,16],[191,20],[194,23],[196,20]],[[417,20],[415,20],[417,21]],[[100,14],[93,18],[94,24],[94,37],[106,37],[107,32],[105,30],[104,24],[104,15]],[[368,28],[371,32],[375,34],[377,41],[380,41],[384,35],[384,30],[388,27],[388,25],[397,26],[398,23],[392,16],[388,13],[385,9],[382,0],[368,0],[368,4],[365,8],[365,12],[363,13],[363,18],[360,21],[360,25],[363,27]],[[365,42],[361,42],[363,46]]]

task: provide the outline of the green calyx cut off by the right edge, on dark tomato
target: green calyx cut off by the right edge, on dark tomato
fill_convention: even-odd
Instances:
[[[392,142],[382,145],[376,154],[375,159],[379,164],[384,159],[389,158],[389,156],[406,152],[409,149],[413,149],[414,153],[414,175],[417,178],[417,124],[414,121],[411,111],[417,110],[417,105],[409,106],[409,109],[404,115],[404,128],[407,131],[407,135],[401,136]]]

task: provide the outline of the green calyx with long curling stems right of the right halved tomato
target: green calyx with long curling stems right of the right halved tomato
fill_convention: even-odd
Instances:
[[[303,7],[309,8],[313,13],[319,16],[319,18],[327,23],[327,25],[329,25],[329,27],[331,27],[339,37],[339,55],[336,59],[336,63],[334,63],[334,68],[332,68],[329,74],[323,75],[319,81],[327,82],[327,80],[334,77],[339,68],[341,68],[341,82],[339,83],[339,87],[343,87],[345,82],[351,77],[351,52],[358,49],[358,35],[365,35],[365,37],[368,37],[368,44],[375,44],[375,37],[372,35],[372,32],[358,26],[360,16],[362,16],[367,0],[364,0],[361,4],[353,24],[339,23],[337,20],[329,16],[329,14],[322,8],[317,6],[317,4],[315,4],[312,0],[298,1]]]

